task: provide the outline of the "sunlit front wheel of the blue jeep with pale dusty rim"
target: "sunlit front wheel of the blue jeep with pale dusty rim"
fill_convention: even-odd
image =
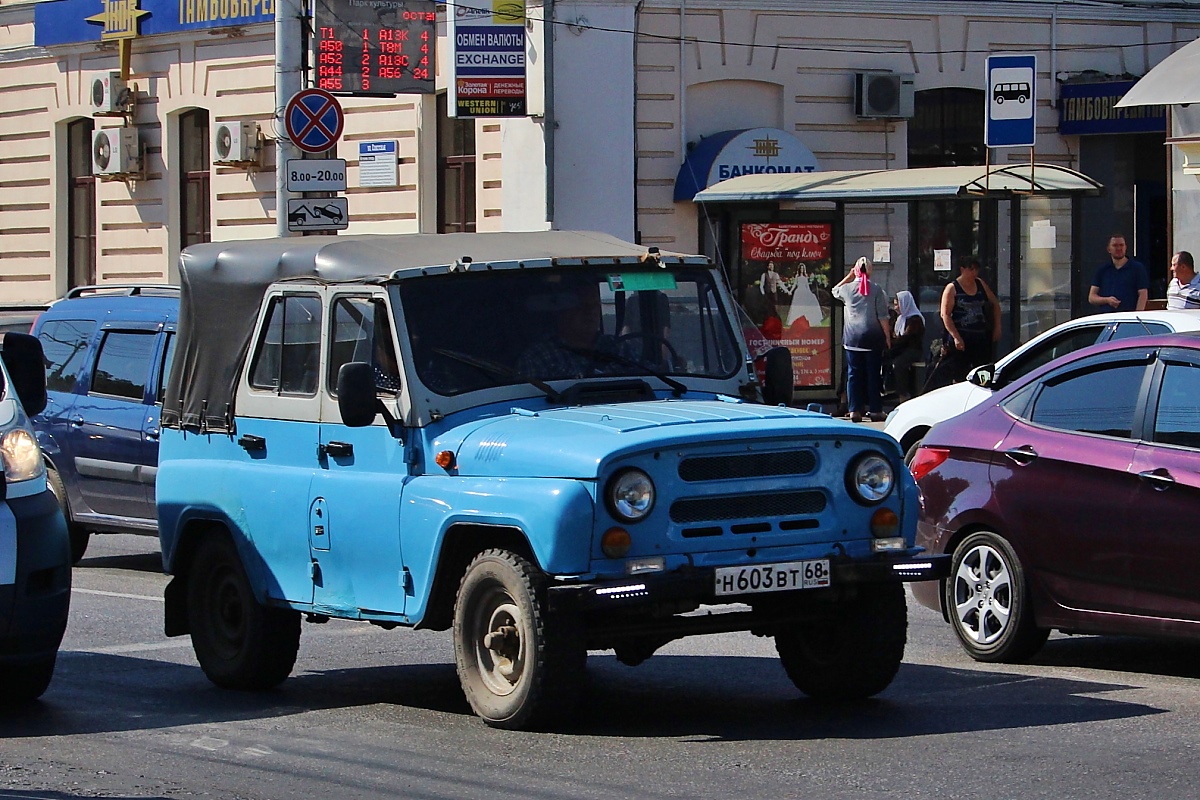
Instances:
[[[547,610],[541,572],[500,549],[480,553],[463,575],[454,652],[475,714],[514,729],[569,712],[587,661],[582,630]]]

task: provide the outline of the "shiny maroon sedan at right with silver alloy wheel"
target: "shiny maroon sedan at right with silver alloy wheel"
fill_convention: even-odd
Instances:
[[[1051,630],[1200,638],[1200,335],[1052,361],[935,426],[911,469],[917,543],[954,555],[913,594],[977,661]]]

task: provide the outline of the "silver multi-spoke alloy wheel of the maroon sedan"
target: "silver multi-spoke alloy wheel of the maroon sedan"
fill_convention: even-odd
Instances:
[[[1028,661],[1050,636],[1034,622],[1025,569],[1000,534],[982,530],[964,539],[943,585],[950,626],[976,661]]]

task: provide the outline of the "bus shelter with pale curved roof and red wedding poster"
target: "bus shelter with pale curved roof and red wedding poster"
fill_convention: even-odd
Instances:
[[[894,296],[908,289],[926,337],[959,264],[974,258],[1001,300],[997,356],[1085,313],[1080,198],[1088,176],[1048,163],[740,175],[703,188],[703,251],[724,264],[760,349],[792,351],[797,393],[832,395],[841,369],[836,284],[859,255]],[[926,345],[929,342],[926,342]]]

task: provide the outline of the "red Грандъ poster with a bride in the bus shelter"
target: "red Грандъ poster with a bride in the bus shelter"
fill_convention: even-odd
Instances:
[[[757,326],[750,351],[784,345],[797,386],[833,385],[829,294],[833,224],[744,223],[742,300]]]

